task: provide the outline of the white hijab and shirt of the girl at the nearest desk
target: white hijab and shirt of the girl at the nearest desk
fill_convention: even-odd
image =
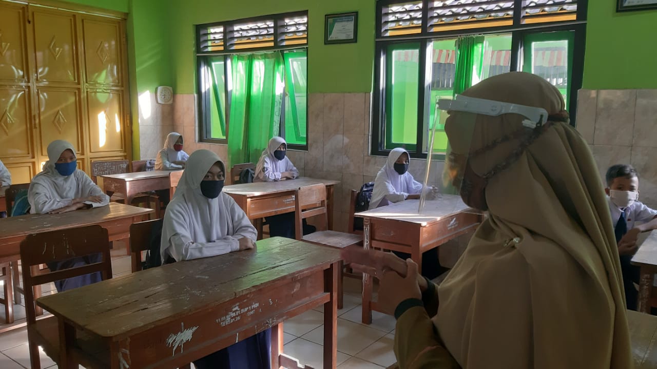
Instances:
[[[210,150],[196,150],[189,157],[164,215],[162,263],[167,255],[175,261],[199,259],[238,251],[240,238],[256,240],[256,228],[231,196],[223,192],[214,199],[203,196],[200,183],[216,162],[223,165]]]

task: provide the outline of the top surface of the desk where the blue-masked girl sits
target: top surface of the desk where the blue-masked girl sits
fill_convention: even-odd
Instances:
[[[0,240],[72,227],[94,225],[152,213],[152,209],[110,202],[107,206],[79,209],[62,214],[27,214],[0,219]]]

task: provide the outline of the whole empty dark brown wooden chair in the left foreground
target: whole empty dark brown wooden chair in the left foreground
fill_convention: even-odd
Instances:
[[[46,250],[47,252],[44,252]],[[100,253],[102,261],[84,265],[82,267],[73,267],[62,269],[60,271],[49,271],[45,269],[40,271],[32,267],[50,263],[53,261],[62,261],[75,257],[95,255]],[[55,316],[46,316],[37,320],[35,315],[35,296],[32,288],[41,286],[56,280],[72,278],[74,276],[83,276],[93,272],[101,272],[102,280],[112,278],[112,259],[110,258],[110,244],[108,242],[107,230],[99,225],[87,227],[69,228],[64,230],[53,230],[38,234],[28,235],[20,243],[20,259],[23,268],[23,280],[25,283],[25,311],[27,315],[28,326],[28,343],[30,347],[30,363],[33,369],[41,368],[39,359],[39,346],[53,361],[62,367],[62,360],[65,353],[60,351],[60,332],[57,318]],[[71,301],[72,304],[75,301]],[[82,332],[78,332],[77,343],[79,346],[95,347],[93,339]],[[91,349],[87,352],[95,352]],[[77,355],[74,351],[72,360],[85,366],[86,368],[99,367],[95,358],[86,355]]]

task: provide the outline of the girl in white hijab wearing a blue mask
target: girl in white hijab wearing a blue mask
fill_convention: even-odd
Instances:
[[[109,196],[102,193],[87,173],[77,169],[77,158],[73,145],[64,140],[56,140],[48,145],[48,161],[43,165],[43,171],[35,175],[28,190],[30,213],[66,213],[78,209],[106,206]],[[99,263],[101,255],[76,257],[56,263],[48,263],[51,271],[68,269]],[[58,292],[72,288],[87,286],[99,282],[101,273],[87,274],[55,282]]]

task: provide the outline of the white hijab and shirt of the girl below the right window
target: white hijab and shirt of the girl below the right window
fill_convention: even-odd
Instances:
[[[394,148],[388,154],[388,161],[374,179],[374,189],[370,200],[369,209],[386,206],[390,203],[406,200],[409,194],[419,194],[422,192],[422,183],[415,181],[413,175],[408,171],[399,175],[395,171],[395,162],[403,153],[408,154],[403,148]]]

